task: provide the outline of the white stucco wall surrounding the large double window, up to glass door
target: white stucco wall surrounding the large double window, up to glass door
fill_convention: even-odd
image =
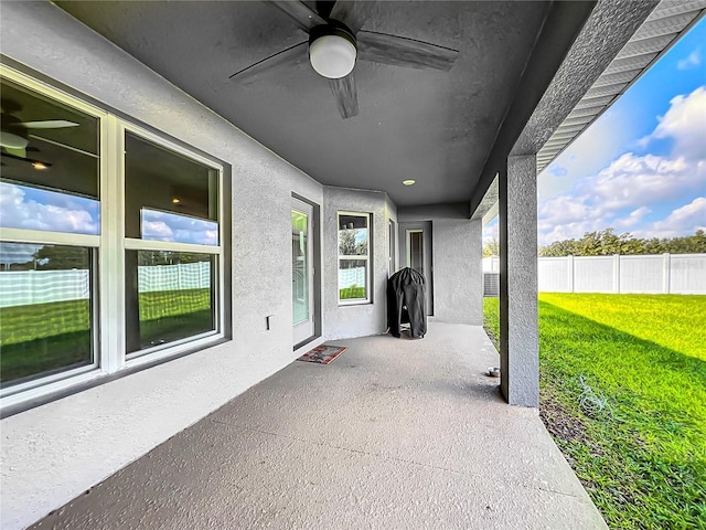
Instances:
[[[290,197],[322,204],[323,190],[51,3],[3,2],[0,23],[6,56],[233,169],[233,340],[2,420],[1,527],[14,529],[297,357]]]

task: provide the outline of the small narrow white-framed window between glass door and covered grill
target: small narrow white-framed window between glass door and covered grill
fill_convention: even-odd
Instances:
[[[339,213],[339,303],[371,301],[370,213]]]

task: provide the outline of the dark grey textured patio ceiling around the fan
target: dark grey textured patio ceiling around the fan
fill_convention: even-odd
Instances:
[[[383,190],[399,205],[471,193],[549,2],[379,2],[364,30],[460,51],[449,73],[359,62],[359,116],[341,119],[307,60],[247,82],[245,66],[307,39],[261,2],[56,2],[324,184]],[[405,179],[417,184],[406,188]]]

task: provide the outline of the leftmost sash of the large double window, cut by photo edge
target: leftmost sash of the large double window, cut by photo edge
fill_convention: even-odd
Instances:
[[[100,118],[2,78],[0,388],[97,365]]]

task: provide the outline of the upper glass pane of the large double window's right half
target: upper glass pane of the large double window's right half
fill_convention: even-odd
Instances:
[[[218,171],[130,132],[125,151],[126,236],[217,245]]]

